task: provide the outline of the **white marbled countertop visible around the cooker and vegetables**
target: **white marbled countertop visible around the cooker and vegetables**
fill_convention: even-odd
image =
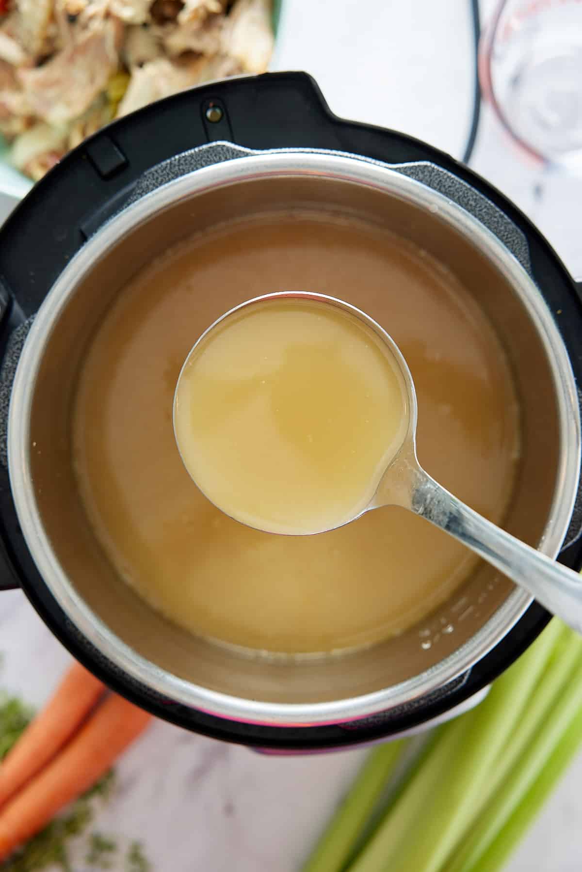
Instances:
[[[285,0],[275,69],[307,69],[332,110],[401,128],[455,156],[469,126],[474,75],[467,0]],[[490,2],[483,3],[487,14]],[[579,183],[540,179],[483,112],[471,165],[528,212],[582,275]],[[0,686],[41,705],[68,654],[20,592],[0,596]],[[143,841],[155,872],[297,872],[364,752],[261,757],[156,722],[120,761],[119,787],[97,825]],[[508,872],[582,867],[572,766]]]

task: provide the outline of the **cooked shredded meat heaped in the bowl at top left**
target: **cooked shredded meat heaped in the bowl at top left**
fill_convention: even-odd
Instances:
[[[99,127],[154,100],[264,72],[271,0],[8,0],[0,136],[35,181]]]

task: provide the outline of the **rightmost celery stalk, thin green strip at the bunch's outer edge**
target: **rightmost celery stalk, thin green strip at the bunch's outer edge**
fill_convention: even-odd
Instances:
[[[582,707],[579,707],[558,746],[510,820],[490,844],[481,860],[471,868],[471,872],[500,872],[503,869],[508,857],[517,848],[517,844],[556,787],[580,746],[582,746]]]

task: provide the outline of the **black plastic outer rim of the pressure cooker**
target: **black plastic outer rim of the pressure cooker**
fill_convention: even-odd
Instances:
[[[206,117],[211,105],[219,106],[222,112],[216,123]],[[531,221],[503,194],[448,154],[401,133],[337,118],[305,73],[235,78],[175,95],[113,122],[62,160],[33,188],[0,231],[2,358],[12,330],[34,314],[65,264],[88,236],[123,206],[140,176],[162,160],[216,140],[258,150],[322,148],[385,163],[428,160],[468,182],[525,235],[532,274],[555,313],[574,376],[580,382],[582,303],[572,278]],[[1,412],[4,417],[6,412],[5,408]],[[582,566],[578,532],[574,528],[573,541],[559,556],[561,562],[575,569]],[[260,726],[221,719],[161,698],[129,678],[81,636],[49,593],[26,548],[5,463],[0,467],[0,557],[5,564],[0,588],[20,586],[54,635],[114,691],[178,726],[215,739],[279,750],[347,747],[420,726],[488,685],[523,653],[550,619],[533,603],[503,642],[473,667],[462,686],[389,721]]]

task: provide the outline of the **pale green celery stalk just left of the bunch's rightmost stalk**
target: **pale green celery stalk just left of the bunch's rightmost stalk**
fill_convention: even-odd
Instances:
[[[496,763],[498,789],[448,861],[447,872],[472,872],[582,706],[582,639],[572,630],[565,632],[569,644],[545,671],[524,718]]]

